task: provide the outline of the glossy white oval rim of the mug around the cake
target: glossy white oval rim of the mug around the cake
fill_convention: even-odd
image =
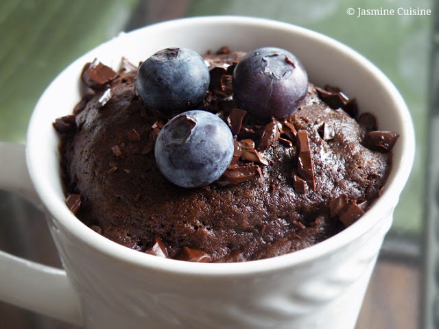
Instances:
[[[276,28],[287,30],[289,33],[301,34],[302,36],[305,36],[307,38],[313,38],[318,40],[318,42],[325,44],[325,47],[331,47],[336,51],[347,54],[349,58],[359,62],[362,66],[364,66],[364,69],[370,71],[377,78],[377,80],[379,80],[381,85],[385,87],[385,91],[388,94],[388,97],[391,97],[392,101],[396,103],[399,107],[398,113],[401,116],[401,122],[404,123],[401,127],[403,128],[403,131],[399,132],[400,137],[397,142],[403,144],[403,156],[401,156],[401,160],[399,161],[399,163],[395,163],[396,159],[393,159],[394,163],[392,164],[391,171],[392,182],[389,182],[391,178],[389,177],[388,181],[385,183],[381,197],[375,200],[373,206],[361,217],[361,219],[359,219],[359,221],[356,221],[352,226],[345,228],[344,230],[342,230],[342,232],[335,234],[335,236],[332,236],[325,241],[322,241],[310,247],[306,247],[305,249],[300,249],[296,252],[291,252],[289,254],[275,256],[272,258],[265,258],[261,260],[250,260],[244,263],[191,263],[187,261],[165,259],[152,256],[110,241],[109,239],[101,236],[100,234],[85,226],[82,221],[80,221],[77,217],[75,217],[75,215],[73,215],[73,213],[70,212],[70,210],[65,205],[64,199],[59,200],[59,197],[54,191],[53,186],[48,186],[47,180],[45,180],[45,178],[41,177],[42,175],[40,175],[40,169],[38,168],[37,159],[38,148],[41,146],[38,144],[38,138],[34,137],[38,136],[38,120],[36,118],[38,116],[38,113],[41,111],[41,107],[43,106],[42,104],[45,101],[44,96],[47,93],[47,90],[49,90],[54,84],[56,84],[58,77],[60,77],[65,71],[67,71],[69,67],[74,66],[75,63],[78,64],[78,62],[83,60],[83,58],[88,53],[95,51],[95,49],[98,49],[99,47],[107,45],[109,42],[113,42],[117,38],[130,35],[132,36],[138,33],[143,34],[145,33],[145,30],[151,31],[154,29],[161,29],[162,27],[167,27],[168,29],[177,27],[182,28],[182,25],[187,26],[193,24],[235,24],[237,26],[258,25],[259,28]],[[394,201],[394,206],[397,202],[397,199],[399,198],[399,195],[401,194],[405,182],[410,175],[412,163],[414,161],[414,128],[412,126],[412,119],[410,117],[410,112],[407,109],[405,101],[403,100],[403,97],[400,95],[399,91],[396,90],[396,87],[392,84],[392,82],[390,82],[388,77],[386,77],[377,68],[377,66],[372,64],[369,60],[364,58],[364,56],[357,53],[350,47],[343,45],[341,42],[338,42],[337,40],[334,40],[329,36],[325,36],[318,32],[314,32],[310,29],[299,27],[291,23],[284,23],[281,21],[274,21],[272,19],[263,19],[250,16],[229,15],[196,16],[183,19],[173,19],[171,21],[164,21],[161,23],[147,25],[145,27],[135,29],[132,32],[122,33],[117,38],[108,40],[107,42],[104,42],[101,45],[98,45],[97,47],[91,49],[91,51],[88,51],[83,56],[80,56],[80,58],[67,66],[67,68],[64,69],[58,75],[58,77],[54,79],[54,81],[47,87],[43,95],[40,97],[40,100],[36,104],[27,130],[27,167],[29,169],[29,174],[36,188],[36,191],[40,198],[43,200],[45,208],[49,211],[51,216],[54,217],[55,221],[64,226],[64,228],[70,234],[74,234],[80,241],[83,241],[84,243],[93,247],[93,249],[97,249],[103,254],[112,256],[113,258],[117,258],[124,262],[136,264],[137,266],[144,268],[150,267],[156,270],[167,272],[171,271],[180,274],[185,273],[188,275],[195,274],[209,276],[248,274],[255,272],[269,272],[275,269],[293,267],[295,265],[309,263],[313,260],[316,260],[317,258],[329,255],[333,253],[336,249],[348,245],[348,243],[357,239],[359,236],[361,236],[361,234],[364,234],[364,232],[367,232],[373,226],[377,225],[377,223],[379,223],[379,219],[382,217],[380,211],[382,212],[383,210],[381,208],[388,209],[389,212],[392,212],[393,208],[389,208],[388,206],[388,204],[390,204],[389,199],[392,199],[392,201]],[[84,62],[82,62],[82,65],[83,64]],[[394,200],[395,197],[396,200]],[[54,201],[54,198],[56,201]]]

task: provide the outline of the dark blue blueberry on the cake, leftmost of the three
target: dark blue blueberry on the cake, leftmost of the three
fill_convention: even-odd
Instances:
[[[137,73],[137,93],[161,112],[186,110],[206,95],[211,78],[202,57],[191,49],[167,48],[145,60]]]

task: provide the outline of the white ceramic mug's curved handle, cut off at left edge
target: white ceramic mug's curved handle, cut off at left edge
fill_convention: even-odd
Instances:
[[[25,145],[0,142],[0,188],[42,209],[27,171]],[[0,300],[70,324],[82,324],[80,300],[64,270],[1,250]]]

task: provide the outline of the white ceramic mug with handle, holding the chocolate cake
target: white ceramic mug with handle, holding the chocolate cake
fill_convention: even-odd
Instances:
[[[97,234],[64,202],[58,135],[52,123],[80,100],[80,73],[98,58],[117,68],[159,49],[204,53],[224,45],[292,51],[309,80],[339,86],[400,137],[383,193],[339,234],[298,252],[246,263],[205,264],[137,252]],[[75,60],[52,82],[32,114],[26,147],[0,144],[0,188],[21,193],[47,214],[62,260],[54,269],[0,252],[0,300],[84,328],[353,329],[377,254],[414,159],[407,106],[376,66],[307,29],[238,16],[179,19],[120,34]],[[29,173],[29,175],[28,175]]]

